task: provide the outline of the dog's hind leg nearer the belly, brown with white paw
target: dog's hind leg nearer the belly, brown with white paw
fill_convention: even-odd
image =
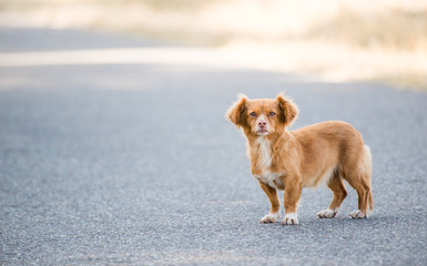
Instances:
[[[339,206],[343,203],[344,198],[347,196],[347,190],[343,183],[343,178],[339,175],[339,171],[336,170],[331,177],[327,186],[334,193],[332,203],[327,209],[324,209],[317,214],[319,218],[333,218],[338,213]]]

